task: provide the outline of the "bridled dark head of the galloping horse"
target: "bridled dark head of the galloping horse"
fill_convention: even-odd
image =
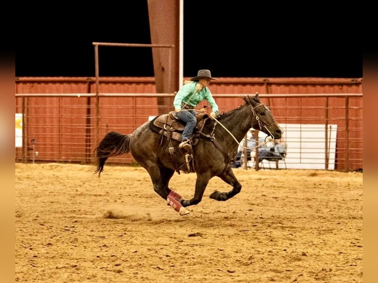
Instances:
[[[259,95],[244,97],[246,103],[251,107],[251,127],[260,130],[273,139],[280,139],[283,133],[282,128],[274,120],[269,108],[262,104]]]

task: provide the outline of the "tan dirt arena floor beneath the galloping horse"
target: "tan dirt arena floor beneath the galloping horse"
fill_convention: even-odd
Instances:
[[[363,174],[242,170],[180,216],[143,168],[15,165],[15,281],[352,283],[363,279]],[[171,188],[189,199],[195,174]]]

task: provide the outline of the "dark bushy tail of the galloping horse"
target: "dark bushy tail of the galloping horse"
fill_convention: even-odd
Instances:
[[[118,132],[109,132],[99,142],[95,148],[95,166],[96,171],[100,177],[101,172],[104,171],[105,161],[112,156],[128,153],[130,151],[130,135],[123,135]]]

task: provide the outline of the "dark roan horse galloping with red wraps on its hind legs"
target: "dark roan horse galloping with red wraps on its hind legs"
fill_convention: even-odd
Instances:
[[[191,140],[189,153],[179,149],[183,125],[171,119],[170,114],[157,116],[145,122],[132,134],[109,132],[95,148],[95,174],[100,177],[106,160],[111,156],[130,152],[151,177],[153,190],[180,215],[189,213],[187,207],[201,202],[209,180],[220,177],[232,189],[215,190],[210,198],[226,201],[241,190],[241,184],[232,171],[239,142],[250,128],[260,130],[273,140],[280,139],[282,128],[274,120],[271,111],[262,104],[258,94],[243,96],[244,105],[211,119],[207,114],[197,117],[197,125]],[[197,114],[198,115],[198,114]],[[159,128],[160,124],[164,124]],[[180,127],[180,125],[182,127]],[[195,173],[195,190],[191,199],[182,198],[169,188],[174,173]]]

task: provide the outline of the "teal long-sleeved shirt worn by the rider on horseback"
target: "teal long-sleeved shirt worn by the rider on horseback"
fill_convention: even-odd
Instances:
[[[195,107],[201,101],[206,100],[207,102],[209,102],[211,110],[215,112],[216,115],[218,115],[218,105],[211,95],[208,87],[202,88],[199,92],[193,95],[197,83],[197,81],[193,81],[191,83],[184,84],[177,92],[175,100],[173,101],[173,106],[175,106],[175,109],[178,109],[181,108],[181,105],[184,103]]]

